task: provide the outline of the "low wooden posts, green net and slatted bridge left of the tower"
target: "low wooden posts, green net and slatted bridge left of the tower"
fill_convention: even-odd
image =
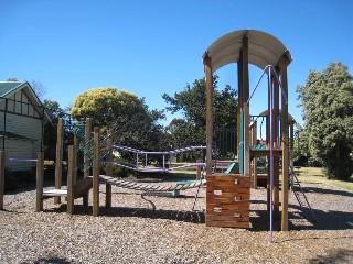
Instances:
[[[82,127],[82,125],[81,125]],[[111,177],[113,165],[118,165],[120,167],[129,168],[138,172],[168,172],[171,169],[184,168],[190,166],[196,166],[197,172],[201,174],[201,167],[204,163],[191,163],[189,165],[183,165],[179,167],[163,167],[161,168],[146,168],[140,167],[136,164],[135,167],[130,167],[126,164],[120,164],[113,161],[113,151],[124,150],[132,151],[137,155],[148,155],[148,154],[160,154],[165,157],[165,155],[171,155],[175,153],[181,153],[185,151],[203,150],[203,146],[191,146],[185,148],[180,148],[169,152],[142,152],[131,147],[125,147],[119,145],[114,145],[114,134],[109,131],[107,136],[103,138],[100,134],[100,129],[95,128],[94,136],[92,134],[92,120],[87,119],[84,124],[85,133],[75,133],[74,145],[68,146],[68,169],[67,169],[67,188],[62,188],[62,153],[63,153],[63,121],[58,121],[57,127],[57,145],[56,145],[56,165],[55,165],[55,188],[43,190],[43,162],[42,153],[38,157],[38,179],[36,179],[36,211],[43,210],[43,200],[49,198],[54,198],[54,204],[60,204],[61,198],[65,197],[67,200],[67,212],[72,215],[74,212],[74,200],[77,198],[83,198],[84,206],[88,206],[88,191],[93,189],[93,216],[99,216],[99,183],[106,185],[106,207],[111,206],[111,185],[116,185],[124,188],[137,189],[143,191],[173,191],[178,194],[180,190],[189,188],[197,188],[204,185],[204,180],[176,183],[170,186],[154,186],[147,184],[139,184],[135,182],[121,180]],[[82,129],[82,128],[81,128]],[[83,129],[82,129],[83,130]],[[81,135],[81,139],[79,139]],[[81,142],[83,140],[84,142]],[[81,143],[79,143],[81,142]],[[79,154],[83,160],[83,164],[78,164]],[[163,158],[164,160],[164,158]],[[101,165],[105,165],[105,175],[100,175]],[[84,170],[84,177],[77,180],[77,170]],[[90,173],[92,172],[92,173]],[[201,177],[199,175],[199,177]],[[176,193],[178,191],[178,193]],[[179,194],[178,194],[179,195]]]

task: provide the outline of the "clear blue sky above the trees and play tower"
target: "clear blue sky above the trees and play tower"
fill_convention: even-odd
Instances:
[[[62,108],[89,88],[114,86],[161,110],[162,94],[204,76],[202,54],[215,40],[254,29],[291,52],[289,110],[302,123],[296,87],[309,70],[342,62],[352,73],[352,10],[350,0],[1,0],[0,80],[40,81]],[[236,87],[235,65],[216,74]],[[259,75],[250,72],[252,86]],[[264,96],[265,87],[252,113],[267,109]]]

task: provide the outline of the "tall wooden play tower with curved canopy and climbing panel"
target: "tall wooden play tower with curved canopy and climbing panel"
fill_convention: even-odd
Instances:
[[[213,143],[213,74],[221,67],[237,63],[238,76],[238,108],[237,108],[237,150],[239,172],[234,175],[231,183],[238,183],[242,188],[247,188],[250,177],[250,161],[255,156],[266,156],[269,167],[270,196],[268,197],[268,208],[270,210],[270,221],[272,218],[281,219],[281,230],[288,230],[288,175],[289,175],[289,124],[288,124],[288,81],[287,67],[291,62],[290,52],[276,37],[261,31],[242,30],[228,33],[216,40],[204,53],[203,64],[206,77],[206,174],[207,188],[208,175],[212,180],[223,180],[222,175],[212,175],[212,143]],[[254,150],[250,145],[250,114],[252,95],[249,92],[249,64],[256,65],[264,70],[263,75],[267,75],[268,79],[268,118],[267,118],[267,139],[265,150]],[[266,95],[264,95],[265,97]],[[281,180],[279,180],[279,170],[281,170]],[[224,176],[224,175],[223,175]],[[212,178],[214,177],[214,178]],[[229,176],[225,176],[229,177]],[[279,183],[281,182],[281,197],[279,197]],[[207,190],[207,208],[210,219],[218,220],[218,226],[225,227],[229,222],[229,216],[240,219],[243,211],[248,208],[240,200],[246,196],[235,195],[233,197],[234,205],[223,206],[227,197],[227,191],[222,186],[227,184],[218,184],[216,188],[221,190]],[[210,185],[210,188],[214,188]],[[249,187],[248,187],[249,189]],[[218,191],[218,193],[217,193]],[[240,190],[239,193],[246,193]],[[210,194],[210,196],[208,196]],[[218,195],[218,200],[217,197]],[[249,194],[248,194],[249,199]],[[237,198],[239,198],[237,200]],[[218,204],[217,204],[218,202]],[[239,202],[236,205],[236,202]],[[217,206],[215,206],[217,205]],[[280,207],[279,207],[280,205]],[[225,210],[222,210],[222,207]],[[227,211],[233,208],[234,211]],[[279,210],[281,208],[281,210]],[[211,210],[212,209],[212,210]],[[237,211],[238,209],[238,211]],[[212,213],[218,216],[213,216]],[[226,216],[222,216],[222,213]],[[246,212],[244,212],[246,216]],[[236,217],[235,217],[236,216]],[[247,219],[248,219],[247,212]],[[206,217],[207,221],[207,217]],[[212,226],[212,224],[210,224]],[[217,226],[217,224],[215,224]]]

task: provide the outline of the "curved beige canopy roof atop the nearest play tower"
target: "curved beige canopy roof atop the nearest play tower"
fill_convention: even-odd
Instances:
[[[204,56],[211,57],[211,66],[216,72],[224,65],[236,63],[244,36],[248,37],[248,61],[250,64],[264,69],[267,65],[277,66],[285,55],[291,62],[290,52],[275,36],[256,30],[234,31],[216,40]]]

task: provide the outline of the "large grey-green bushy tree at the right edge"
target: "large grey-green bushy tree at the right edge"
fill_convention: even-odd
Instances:
[[[311,70],[298,86],[304,129],[313,158],[322,162],[328,178],[346,180],[353,173],[353,77],[342,63]]]

